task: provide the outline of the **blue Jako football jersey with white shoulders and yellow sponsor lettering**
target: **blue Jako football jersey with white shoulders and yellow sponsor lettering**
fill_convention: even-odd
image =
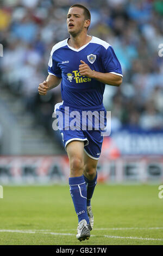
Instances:
[[[92,70],[122,76],[121,64],[110,44],[95,36],[86,45],[75,49],[65,39],[55,44],[48,63],[48,74],[62,78],[61,97],[69,106],[93,107],[103,103],[105,84],[81,76],[80,60]]]

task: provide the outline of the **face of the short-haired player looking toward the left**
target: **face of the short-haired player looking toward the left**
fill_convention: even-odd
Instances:
[[[82,8],[70,8],[67,14],[68,33],[75,36],[83,31],[86,24],[84,10]]]

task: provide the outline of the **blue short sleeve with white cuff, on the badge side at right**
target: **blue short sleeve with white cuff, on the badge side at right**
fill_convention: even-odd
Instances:
[[[118,76],[122,76],[122,68],[117,56],[112,48],[109,46],[105,51],[104,56],[104,70],[105,72],[112,73]]]

